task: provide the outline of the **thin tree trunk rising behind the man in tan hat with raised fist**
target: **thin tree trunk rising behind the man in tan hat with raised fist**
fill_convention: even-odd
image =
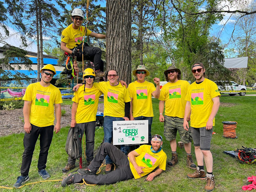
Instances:
[[[143,65],[143,1],[140,0],[139,5],[139,44],[140,44],[140,65]]]

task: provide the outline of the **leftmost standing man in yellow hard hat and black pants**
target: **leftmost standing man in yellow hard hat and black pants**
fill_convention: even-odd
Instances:
[[[24,130],[23,139],[24,152],[21,164],[21,176],[14,184],[15,188],[23,185],[29,180],[29,168],[32,155],[35,149],[38,136],[40,135],[40,154],[38,159],[38,174],[47,179],[50,177],[45,170],[47,155],[52,142],[53,130],[58,133],[61,128],[61,92],[57,87],[50,84],[53,76],[56,75],[55,68],[48,64],[41,70],[41,81],[27,86],[23,97],[24,107]],[[54,107],[56,114],[56,125],[54,121]]]

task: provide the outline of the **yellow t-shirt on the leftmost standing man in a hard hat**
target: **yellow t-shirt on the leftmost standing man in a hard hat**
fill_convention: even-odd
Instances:
[[[31,101],[29,122],[35,126],[53,125],[54,104],[62,103],[61,91],[54,85],[43,87],[40,82],[27,86],[23,100]]]

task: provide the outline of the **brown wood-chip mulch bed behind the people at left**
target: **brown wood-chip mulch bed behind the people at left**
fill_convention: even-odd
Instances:
[[[61,110],[65,110],[66,114],[61,117],[61,127],[69,126],[71,123],[71,105],[62,105]],[[99,103],[98,111],[104,110],[104,104]],[[56,123],[56,120],[55,122]],[[23,109],[0,110],[0,137],[11,135],[13,133],[24,132]]]

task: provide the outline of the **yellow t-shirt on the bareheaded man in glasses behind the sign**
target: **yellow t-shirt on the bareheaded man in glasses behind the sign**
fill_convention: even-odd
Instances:
[[[129,92],[125,86],[122,86],[120,83],[112,86],[109,81],[93,83],[93,86],[104,94],[104,116],[125,116],[125,102],[131,101]]]

